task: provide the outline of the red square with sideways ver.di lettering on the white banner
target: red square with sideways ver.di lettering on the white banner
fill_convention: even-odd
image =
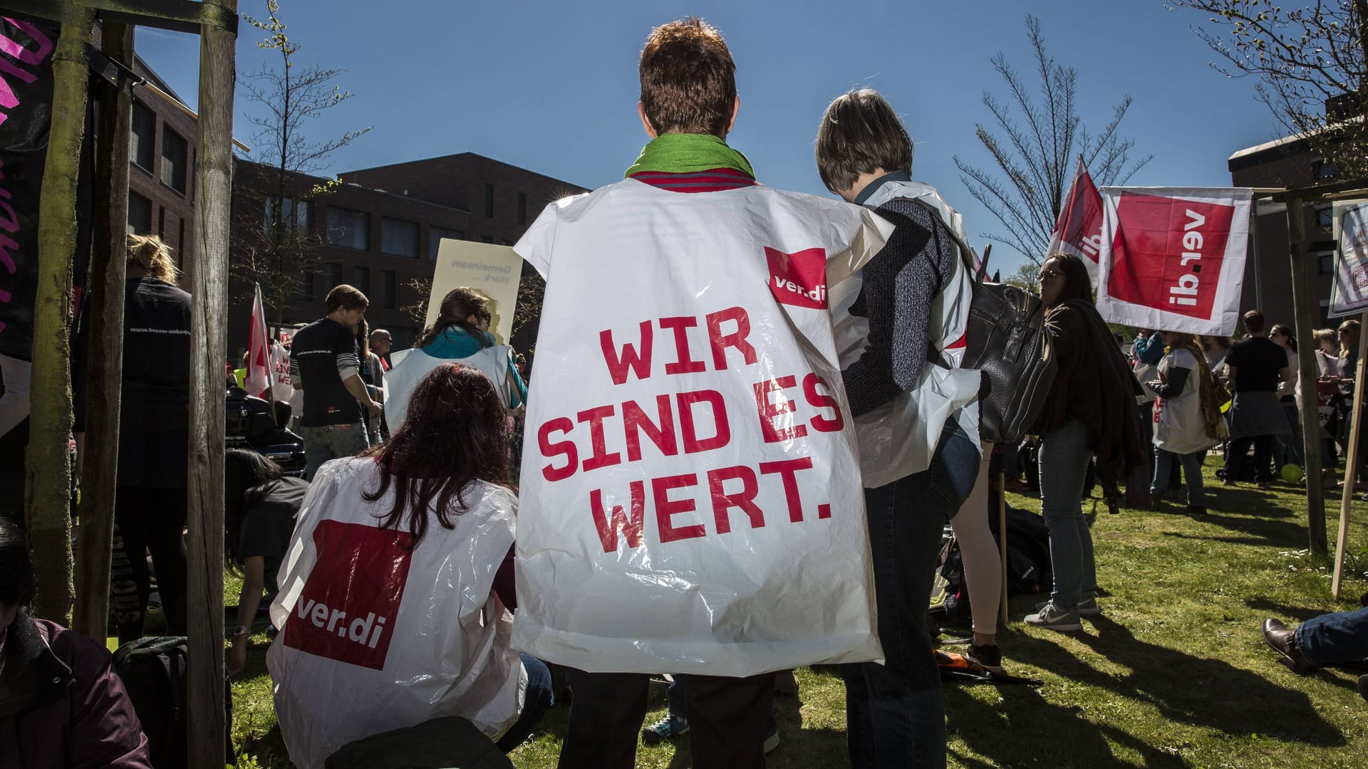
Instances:
[[[1120,301],[1211,317],[1231,205],[1122,193],[1107,291]]]

